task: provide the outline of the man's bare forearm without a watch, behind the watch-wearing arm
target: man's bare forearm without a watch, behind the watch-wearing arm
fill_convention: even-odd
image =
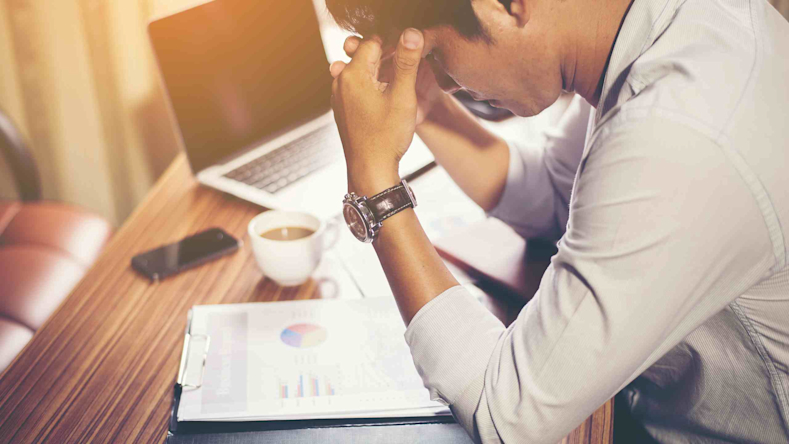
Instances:
[[[474,202],[493,209],[504,192],[509,148],[452,96],[435,105],[417,134],[436,161]]]

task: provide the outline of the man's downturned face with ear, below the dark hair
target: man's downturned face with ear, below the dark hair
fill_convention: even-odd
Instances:
[[[467,39],[449,26],[424,30],[427,60],[436,80],[447,93],[464,89],[516,115],[538,114],[562,89],[558,48],[536,20],[518,26],[502,8],[477,6],[485,3],[490,4],[474,2],[490,42]]]

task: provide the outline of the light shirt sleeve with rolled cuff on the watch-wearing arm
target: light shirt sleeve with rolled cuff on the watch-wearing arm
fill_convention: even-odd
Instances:
[[[417,370],[476,442],[558,442],[769,274],[764,218],[726,156],[657,119],[599,137],[509,328],[460,287],[420,310],[406,330]]]

